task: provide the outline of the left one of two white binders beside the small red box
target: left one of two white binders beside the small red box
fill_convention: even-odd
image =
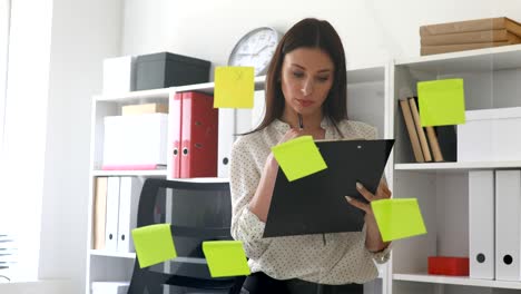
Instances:
[[[470,276],[494,280],[494,171],[469,171]]]

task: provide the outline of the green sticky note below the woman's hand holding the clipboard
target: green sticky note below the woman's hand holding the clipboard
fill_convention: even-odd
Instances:
[[[375,200],[371,207],[384,242],[426,233],[416,198]]]

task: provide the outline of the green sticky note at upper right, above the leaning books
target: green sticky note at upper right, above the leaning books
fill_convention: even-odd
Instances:
[[[465,122],[463,79],[420,81],[417,100],[423,127]]]

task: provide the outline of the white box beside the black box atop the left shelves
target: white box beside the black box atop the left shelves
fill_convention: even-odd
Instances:
[[[104,94],[121,94],[135,89],[135,57],[124,56],[104,59]]]

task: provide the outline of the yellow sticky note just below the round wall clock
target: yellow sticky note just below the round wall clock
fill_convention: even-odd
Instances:
[[[217,67],[214,108],[253,108],[254,76],[253,67]]]

